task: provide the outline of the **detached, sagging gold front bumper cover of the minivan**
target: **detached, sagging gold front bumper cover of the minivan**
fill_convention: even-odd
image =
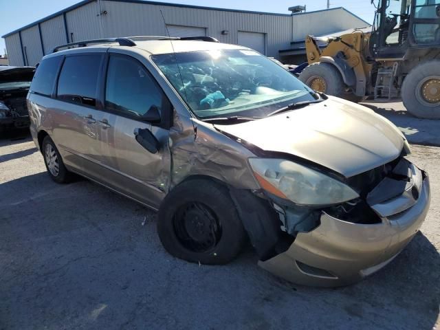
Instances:
[[[425,177],[417,203],[393,217],[382,218],[381,223],[349,223],[322,212],[318,228],[298,233],[289,250],[259,265],[302,285],[336,287],[358,282],[399,254],[419,230],[429,205],[430,184]],[[301,263],[328,274],[307,272]]]

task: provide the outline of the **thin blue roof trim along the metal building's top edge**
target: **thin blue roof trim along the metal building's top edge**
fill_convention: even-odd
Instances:
[[[43,19],[39,19],[38,21],[34,21],[28,25],[25,25],[17,30],[14,30],[12,32],[9,32],[3,36],[1,36],[2,38],[6,38],[7,36],[10,36],[11,34],[17,33],[21,30],[25,30],[27,28],[31,28],[34,25],[37,25],[39,23],[43,23],[45,21],[48,21],[49,19],[53,19],[54,17],[58,17],[62,14],[65,14],[66,12],[70,12],[76,8],[82,7],[83,5],[87,5],[87,3],[91,3],[95,0],[83,0],[80,1],[78,3],[76,3],[75,5],[71,5],[70,7],[67,7],[63,10],[60,10],[59,12],[55,12],[54,14],[51,14],[47,17],[44,17]],[[203,10],[220,10],[223,12],[242,12],[242,13],[248,13],[248,14],[265,14],[265,15],[274,15],[274,16],[281,16],[281,17],[290,17],[292,16],[292,14],[277,14],[274,12],[256,12],[256,11],[251,11],[251,10],[238,10],[238,9],[228,9],[228,8],[216,8],[216,7],[206,7],[206,6],[201,6],[201,5],[184,5],[184,4],[180,4],[180,3],[166,3],[166,2],[159,2],[159,1],[147,1],[147,0],[109,0],[109,1],[117,1],[117,2],[126,2],[126,3],[144,3],[144,4],[148,4],[148,5],[162,5],[162,6],[167,6],[167,7],[181,7],[181,8],[194,8],[194,9],[203,9]],[[349,10],[343,8],[343,7],[338,7],[338,8],[330,8],[330,9],[325,9],[325,10],[316,10],[314,12],[302,12],[302,13],[298,13],[298,14],[294,14],[293,16],[296,15],[306,15],[306,14],[311,14],[311,13],[316,13],[316,12],[324,12],[324,11],[328,11],[328,10],[345,10],[346,12],[349,12],[349,14],[352,14],[354,17],[360,19],[360,21],[364,21],[363,19],[361,19],[360,17],[358,17],[357,15],[353,14],[353,12],[350,12]],[[369,24],[368,22],[364,21],[366,24]]]

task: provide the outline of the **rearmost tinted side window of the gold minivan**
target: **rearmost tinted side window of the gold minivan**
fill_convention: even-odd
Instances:
[[[62,59],[62,56],[56,56],[46,58],[41,62],[36,69],[34,79],[30,86],[32,92],[44,96],[52,96],[56,73],[58,72],[58,67],[60,66]]]

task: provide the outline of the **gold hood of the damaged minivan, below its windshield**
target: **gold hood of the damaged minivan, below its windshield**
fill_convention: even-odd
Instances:
[[[359,104],[329,100],[234,125],[215,125],[264,151],[289,153],[351,177],[397,158],[404,135]]]

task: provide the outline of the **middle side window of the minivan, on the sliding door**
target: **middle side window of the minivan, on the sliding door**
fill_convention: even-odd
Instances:
[[[57,97],[95,107],[101,59],[100,54],[67,56],[58,79]]]

